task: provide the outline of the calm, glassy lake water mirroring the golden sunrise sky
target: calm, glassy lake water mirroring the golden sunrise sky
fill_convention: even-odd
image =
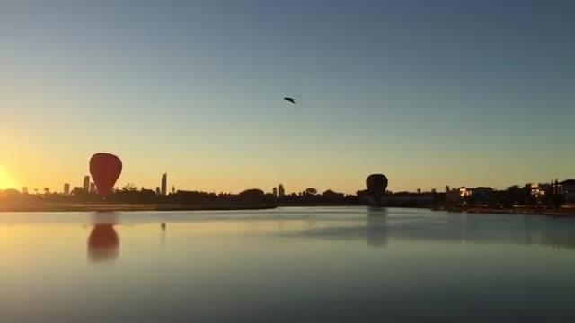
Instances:
[[[571,219],[0,213],[0,322],[569,322],[574,304]]]

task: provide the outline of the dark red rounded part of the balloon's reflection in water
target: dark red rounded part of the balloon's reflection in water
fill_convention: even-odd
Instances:
[[[88,237],[88,258],[92,261],[105,261],[118,256],[119,236],[113,224],[95,224]]]

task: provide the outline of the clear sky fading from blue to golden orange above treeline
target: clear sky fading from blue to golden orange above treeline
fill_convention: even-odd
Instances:
[[[575,178],[575,3],[0,2],[0,188]],[[293,96],[296,106],[282,100]]]

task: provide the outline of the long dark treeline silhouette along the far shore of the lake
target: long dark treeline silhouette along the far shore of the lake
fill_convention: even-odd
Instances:
[[[258,188],[246,189],[238,194],[210,193],[202,191],[178,190],[171,194],[158,195],[146,188],[136,188],[128,184],[116,188],[111,195],[103,198],[95,192],[83,188],[74,188],[69,195],[50,193],[45,188],[43,193],[22,194],[14,189],[0,191],[0,208],[4,205],[30,204],[75,204],[75,205],[191,205],[195,207],[217,206],[289,206],[289,205],[370,205],[373,195],[367,190],[359,190],[355,195],[343,194],[328,189],[319,193],[315,188],[306,188],[300,193],[275,196]],[[536,189],[531,185],[511,186],[502,190],[493,188],[446,188],[445,192],[390,192],[381,196],[381,205],[398,207],[431,207],[458,208],[466,206],[483,206],[512,208],[531,206],[541,208],[559,208],[566,201],[553,183]],[[6,207],[4,207],[6,208]]]

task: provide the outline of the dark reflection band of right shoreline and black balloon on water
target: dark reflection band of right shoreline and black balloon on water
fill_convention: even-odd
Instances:
[[[366,240],[385,247],[394,241],[443,243],[521,244],[575,249],[575,219],[518,214],[387,214],[385,208],[367,208],[365,224],[332,223],[304,230],[297,236],[332,240]]]

